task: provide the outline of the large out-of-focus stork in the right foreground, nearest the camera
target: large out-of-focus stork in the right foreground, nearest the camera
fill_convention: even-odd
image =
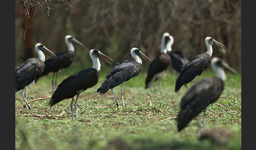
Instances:
[[[223,68],[231,71],[232,73],[237,73],[222,59],[216,57],[211,60],[211,68],[215,72],[215,77],[204,78],[194,84],[181,99],[180,112],[177,120],[178,131],[181,131],[186,125],[188,125],[193,117],[204,111],[208,105],[218,100],[224,89],[224,80],[227,78]],[[204,128],[205,118],[203,117],[203,129]]]

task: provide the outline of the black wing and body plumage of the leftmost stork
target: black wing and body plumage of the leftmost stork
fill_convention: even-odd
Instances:
[[[15,92],[24,89],[26,85],[37,80],[43,73],[44,68],[44,62],[38,58],[30,58],[22,63],[14,72]]]

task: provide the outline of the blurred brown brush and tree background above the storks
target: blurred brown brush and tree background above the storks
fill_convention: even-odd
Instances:
[[[15,67],[37,57],[37,42],[55,53],[67,50],[66,35],[86,46],[74,44],[73,63],[82,68],[92,63],[88,55],[92,48],[99,48],[115,63],[131,58],[132,47],[141,48],[153,60],[160,51],[163,33],[168,32],[174,37],[172,49],[182,51],[188,59],[205,52],[205,37],[213,37],[227,46],[225,55],[213,46],[213,57],[224,58],[230,66],[241,70],[239,0],[15,2]],[[145,62],[143,65],[148,66]]]

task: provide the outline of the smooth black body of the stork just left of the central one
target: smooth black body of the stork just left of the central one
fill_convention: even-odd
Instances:
[[[78,93],[93,87],[98,80],[99,72],[94,68],[88,68],[77,72],[58,85],[49,104],[52,106],[64,99],[73,98]]]

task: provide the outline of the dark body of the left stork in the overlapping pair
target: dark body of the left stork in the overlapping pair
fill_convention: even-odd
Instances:
[[[171,63],[171,58],[168,53],[160,52],[156,58],[150,64],[149,70],[147,71],[147,77],[145,81],[145,88],[149,88],[150,82],[155,82],[158,78],[153,78],[157,73],[165,71]]]

